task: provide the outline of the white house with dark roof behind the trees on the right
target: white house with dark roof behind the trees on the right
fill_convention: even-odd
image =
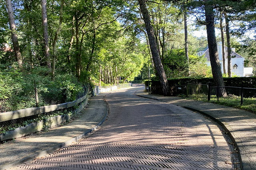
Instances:
[[[228,47],[225,46],[225,63],[226,63],[226,70],[228,70]],[[221,65],[221,71],[223,72],[223,61],[222,61],[222,43],[218,43],[218,54],[219,54],[219,60]],[[209,49],[208,47],[204,51],[200,51],[198,53],[199,56],[204,55],[204,58],[206,58],[206,64],[208,66],[211,66],[210,64],[210,55],[209,55]],[[252,67],[244,67],[244,57],[240,56],[238,53],[235,52],[235,49],[232,49],[231,51],[231,65],[232,65],[232,72],[233,74],[240,76],[240,77],[249,77],[252,76],[253,69]]]

